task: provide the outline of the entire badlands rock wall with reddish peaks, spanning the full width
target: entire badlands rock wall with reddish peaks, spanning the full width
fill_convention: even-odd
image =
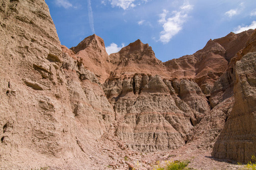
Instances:
[[[43,0],[1,1],[0,25],[2,169],[127,169],[114,152],[184,145],[255,154],[255,30],[162,63],[140,40],[110,55],[96,35],[60,45]]]

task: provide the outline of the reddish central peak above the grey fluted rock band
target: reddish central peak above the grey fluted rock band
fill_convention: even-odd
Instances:
[[[116,65],[113,72],[117,76],[123,73],[168,76],[163,63],[155,57],[151,46],[143,44],[141,40],[130,43],[118,53],[110,54],[109,58],[110,62]]]

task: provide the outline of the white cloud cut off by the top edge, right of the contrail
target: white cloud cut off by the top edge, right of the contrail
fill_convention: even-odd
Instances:
[[[106,5],[107,0],[102,0],[101,3]],[[123,10],[133,8],[141,3],[146,3],[148,0],[108,0],[112,7],[121,7]]]

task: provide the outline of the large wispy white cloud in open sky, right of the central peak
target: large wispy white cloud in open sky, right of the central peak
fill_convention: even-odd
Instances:
[[[168,43],[173,36],[175,36],[183,27],[183,24],[188,18],[188,12],[193,9],[192,5],[188,3],[179,8],[179,11],[173,11],[172,17],[166,18],[169,11],[163,10],[163,13],[159,15],[158,22],[163,24],[163,31],[160,32],[160,41],[164,44]]]

